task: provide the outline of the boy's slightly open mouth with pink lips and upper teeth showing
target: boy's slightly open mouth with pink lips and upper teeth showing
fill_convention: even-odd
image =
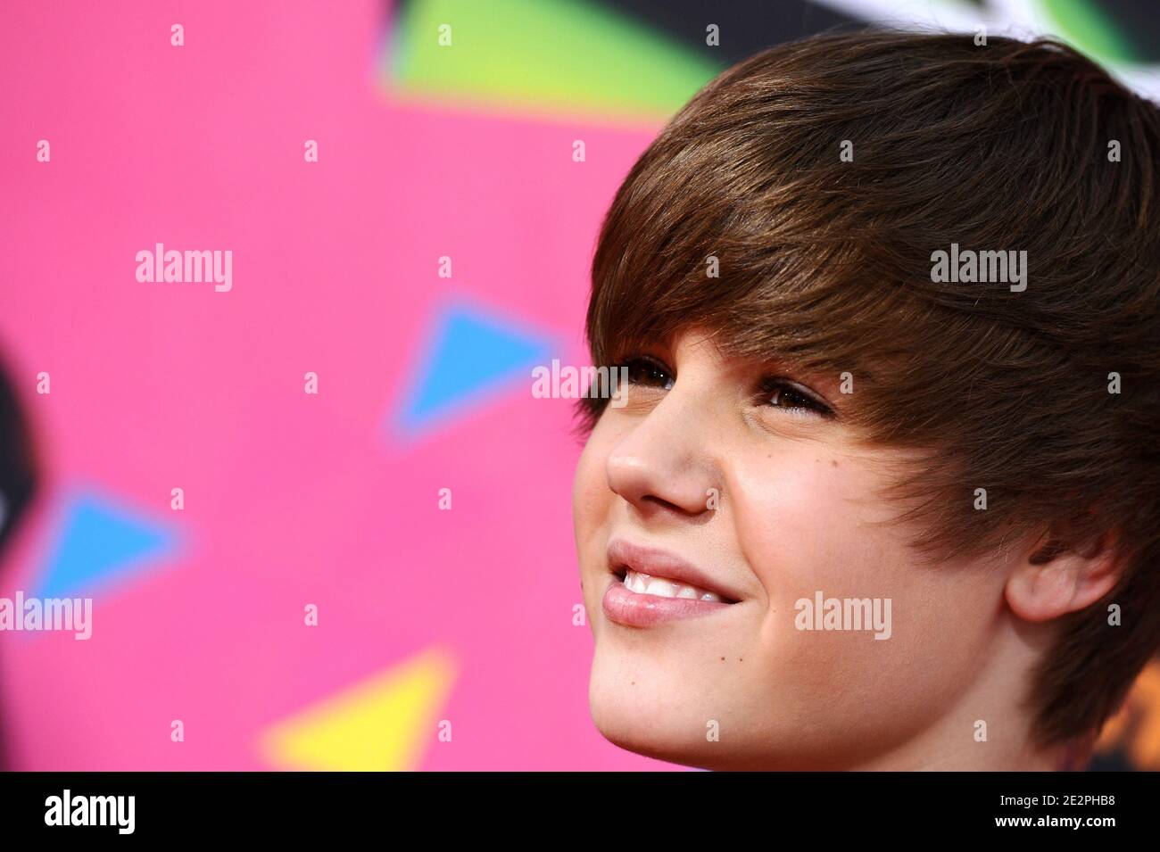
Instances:
[[[740,603],[738,596],[668,551],[614,540],[608,548],[612,575],[604,613],[628,627],[706,616]]]

